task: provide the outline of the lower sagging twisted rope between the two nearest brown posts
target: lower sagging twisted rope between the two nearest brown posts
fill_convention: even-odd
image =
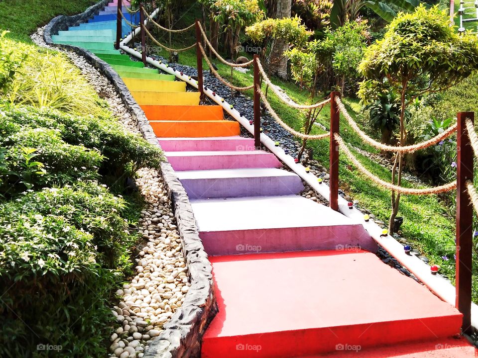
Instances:
[[[412,188],[405,188],[403,186],[398,186],[391,184],[387,181],[384,181],[376,176],[374,176],[372,173],[370,173],[360,162],[359,160],[352,154],[350,149],[347,147],[345,144],[344,140],[340,135],[335,133],[334,135],[335,140],[337,143],[339,143],[339,147],[344,151],[345,155],[347,158],[350,159],[350,161],[359,169],[362,174],[367,176],[370,180],[372,180],[375,184],[383,186],[384,188],[390,189],[390,190],[395,190],[397,192],[400,192],[402,194],[411,194],[411,195],[426,195],[426,194],[439,194],[444,191],[450,191],[453,190],[457,187],[457,181],[450,182],[448,184],[440,185],[440,186],[434,186],[431,188],[425,188],[425,189],[412,189]]]

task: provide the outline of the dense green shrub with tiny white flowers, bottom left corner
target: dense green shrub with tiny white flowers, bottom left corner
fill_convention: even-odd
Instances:
[[[100,357],[107,300],[135,237],[125,202],[95,182],[45,188],[0,205],[1,357]],[[33,331],[33,333],[32,333]],[[32,352],[34,352],[32,354]]]

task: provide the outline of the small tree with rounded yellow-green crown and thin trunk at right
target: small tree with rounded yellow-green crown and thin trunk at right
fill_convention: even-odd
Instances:
[[[438,5],[428,10],[420,5],[412,13],[399,13],[386,29],[383,39],[368,47],[360,62],[364,81],[359,97],[366,105],[389,92],[400,95],[399,145],[403,146],[407,106],[415,98],[448,89],[477,71],[478,42],[475,35],[455,33],[449,16]],[[395,158],[392,183],[400,185],[403,155]],[[399,201],[400,193],[392,191],[392,233]]]

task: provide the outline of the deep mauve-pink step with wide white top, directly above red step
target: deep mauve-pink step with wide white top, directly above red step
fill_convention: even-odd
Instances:
[[[299,195],[199,199],[191,204],[210,256],[247,253],[238,250],[240,245],[260,246],[261,252],[377,250],[361,223]]]

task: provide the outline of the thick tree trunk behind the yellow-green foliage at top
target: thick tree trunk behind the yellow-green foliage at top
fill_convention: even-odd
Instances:
[[[275,18],[281,19],[290,17],[292,0],[277,0],[277,10]],[[289,48],[289,44],[281,39],[272,40],[272,46],[269,57],[266,61],[267,71],[271,75],[277,75],[282,79],[287,79],[287,57],[284,52]]]

